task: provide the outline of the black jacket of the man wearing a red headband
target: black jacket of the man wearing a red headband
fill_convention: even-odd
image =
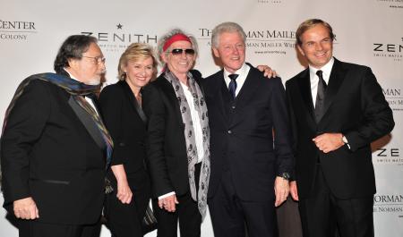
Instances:
[[[198,79],[196,79],[198,81]],[[162,75],[143,91],[143,109],[149,118],[147,153],[152,195],[189,191],[184,123],[171,83]]]

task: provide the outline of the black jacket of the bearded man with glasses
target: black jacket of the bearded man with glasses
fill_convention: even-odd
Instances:
[[[72,99],[50,82],[32,80],[13,107],[1,144],[4,207],[11,213],[14,200],[32,197],[39,222],[99,220],[106,152],[74,113]]]

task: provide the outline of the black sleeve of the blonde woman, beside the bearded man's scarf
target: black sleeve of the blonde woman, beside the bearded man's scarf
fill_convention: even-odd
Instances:
[[[122,140],[122,110],[124,104],[124,91],[116,85],[108,86],[99,95],[99,106],[107,131],[114,140],[111,165],[123,165],[125,144]]]

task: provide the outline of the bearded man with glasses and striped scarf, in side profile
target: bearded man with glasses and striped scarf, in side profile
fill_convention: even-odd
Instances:
[[[105,72],[97,39],[67,38],[55,71],[23,80],[4,118],[4,207],[21,237],[91,236],[102,210],[112,141],[92,97]]]

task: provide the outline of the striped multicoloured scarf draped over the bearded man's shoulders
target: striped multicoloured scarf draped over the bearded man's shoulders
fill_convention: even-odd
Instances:
[[[110,137],[101,118],[99,117],[99,114],[97,114],[97,112],[94,110],[94,108],[92,106],[90,106],[90,104],[87,102],[87,100],[85,100],[85,98],[83,97],[83,96],[90,95],[91,93],[96,92],[99,89],[99,86],[86,85],[78,80],[73,80],[64,75],[50,73],[50,72],[32,75],[29,78],[22,80],[20,86],[15,91],[15,94],[10,103],[10,106],[8,106],[7,110],[5,111],[3,131],[4,131],[5,125],[7,123],[8,115],[12,111],[15,103],[17,102],[17,99],[19,97],[21,97],[25,87],[28,86],[30,84],[30,81],[32,81],[32,80],[44,80],[44,81],[51,82],[51,83],[55,84],[56,86],[65,89],[69,94],[72,95],[73,99],[77,102],[77,104],[79,106],[81,106],[81,108],[84,109],[88,114],[90,114],[92,120],[97,125],[97,128],[99,129],[99,132],[101,133],[102,138],[105,141],[105,144],[107,145],[107,167],[108,167],[108,165],[110,164],[110,160],[112,158],[111,155],[112,155],[112,149],[114,146],[113,140]]]

